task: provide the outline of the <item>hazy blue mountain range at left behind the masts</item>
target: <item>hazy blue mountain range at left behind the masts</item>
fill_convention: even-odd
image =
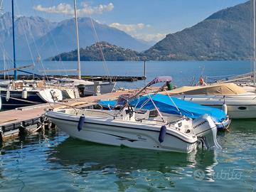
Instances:
[[[80,46],[86,47],[95,43],[95,33],[92,22],[100,41],[107,41],[124,48],[146,50],[149,48],[127,33],[110,26],[91,21],[90,18],[78,18]],[[21,16],[15,18],[16,58],[28,60],[36,58],[49,58],[62,52],[76,48],[75,21],[73,18],[50,22],[45,18]],[[11,14],[0,16],[0,43],[12,58],[12,25]]]

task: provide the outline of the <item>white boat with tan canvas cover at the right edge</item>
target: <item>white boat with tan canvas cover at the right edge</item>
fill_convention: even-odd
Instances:
[[[233,83],[184,86],[167,92],[182,100],[223,109],[230,119],[256,118],[256,93]],[[161,94],[166,95],[166,92]]]

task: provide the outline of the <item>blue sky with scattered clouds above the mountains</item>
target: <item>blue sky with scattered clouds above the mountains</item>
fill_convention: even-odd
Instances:
[[[0,0],[1,1],[1,0]],[[125,31],[148,42],[181,31],[215,11],[246,0],[77,0],[78,16]],[[14,0],[16,16],[41,16],[50,21],[73,17],[73,0]],[[3,1],[3,12],[11,11],[11,1]]]

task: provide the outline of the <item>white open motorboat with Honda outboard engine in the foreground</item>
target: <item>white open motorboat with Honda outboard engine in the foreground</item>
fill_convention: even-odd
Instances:
[[[155,78],[149,85],[165,80],[170,78]],[[221,148],[216,139],[217,127],[208,114],[192,120],[163,115],[157,108],[135,112],[127,102],[120,110],[48,110],[46,117],[71,137],[100,144],[185,153],[197,146]]]

